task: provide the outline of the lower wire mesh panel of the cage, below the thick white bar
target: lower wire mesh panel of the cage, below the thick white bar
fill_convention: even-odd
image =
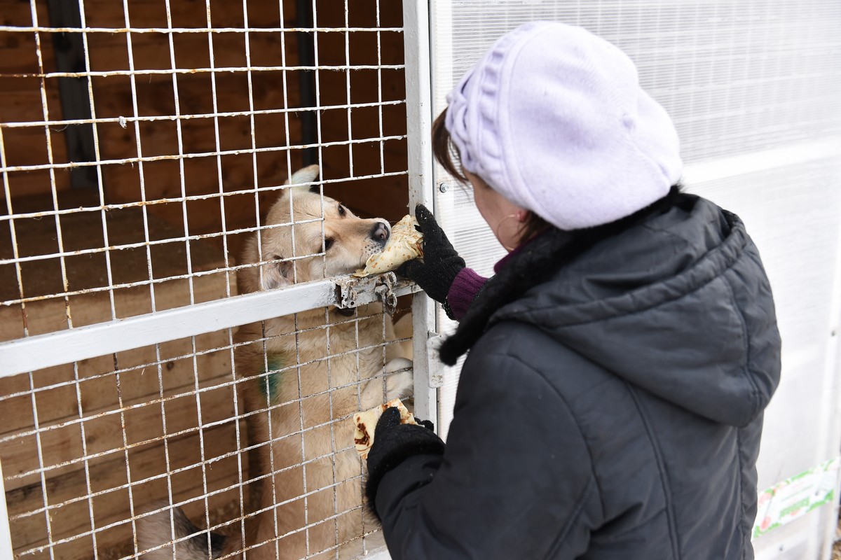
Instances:
[[[157,547],[172,555],[169,532],[143,535],[142,521],[157,512],[168,517],[173,507],[225,535],[228,557],[261,546],[277,549],[272,557],[364,552],[370,545],[362,537],[376,527],[362,516],[351,418],[366,406],[366,388],[382,401],[388,379],[406,373],[366,369],[365,361],[384,364],[405,353],[399,347],[409,339],[389,340],[382,313],[336,319],[328,312],[312,311],[309,318],[321,315],[323,324],[297,332],[267,335],[257,324],[256,338],[229,329],[0,379],[9,418],[0,456],[15,552],[136,557]],[[325,339],[318,357],[301,345],[305,337]],[[291,364],[258,350],[256,375],[231,367],[237,353],[284,338],[294,348]],[[246,404],[241,395],[250,392],[258,396]],[[254,437],[251,423],[268,437]],[[272,500],[253,491],[260,485]],[[266,520],[269,536],[258,539],[256,526]],[[188,542],[197,534],[208,538],[194,527],[174,536]]]

